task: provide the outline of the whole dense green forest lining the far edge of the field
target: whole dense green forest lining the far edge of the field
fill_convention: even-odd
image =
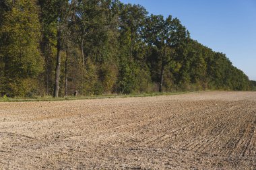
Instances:
[[[2,96],[255,87],[225,54],[193,40],[172,15],[150,15],[119,0],[0,1]]]

